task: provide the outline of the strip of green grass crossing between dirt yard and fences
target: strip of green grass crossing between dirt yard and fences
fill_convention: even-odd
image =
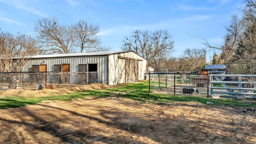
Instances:
[[[20,96],[7,96],[0,98],[0,109],[15,108],[20,106],[27,106],[30,104],[37,104],[43,100],[74,100],[78,98],[85,98],[86,96],[109,97],[117,96],[122,98],[130,98],[140,102],[150,102],[155,104],[172,103],[172,102],[198,102],[206,104],[212,102],[214,105],[223,106],[241,106],[241,107],[255,107],[254,103],[249,103],[242,100],[232,98],[212,99],[198,96],[180,96],[170,94],[151,94],[148,93],[148,82],[141,82],[138,84],[119,84],[114,88],[105,90],[88,90],[84,92],[74,92],[72,94],[62,96],[48,96],[36,98],[23,98]]]

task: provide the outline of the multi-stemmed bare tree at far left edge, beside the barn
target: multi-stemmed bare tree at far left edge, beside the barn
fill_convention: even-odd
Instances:
[[[31,56],[38,53],[36,40],[27,34],[1,33],[0,35],[0,71],[20,72]]]

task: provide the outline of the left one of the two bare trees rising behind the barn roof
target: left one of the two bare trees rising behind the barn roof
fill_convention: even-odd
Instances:
[[[75,51],[74,37],[68,26],[58,24],[58,19],[48,17],[38,20],[34,26],[40,46],[48,54],[67,54]]]

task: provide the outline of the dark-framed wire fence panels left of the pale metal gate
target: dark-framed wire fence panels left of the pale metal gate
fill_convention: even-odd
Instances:
[[[149,92],[177,95],[209,96],[208,74],[149,73]]]

